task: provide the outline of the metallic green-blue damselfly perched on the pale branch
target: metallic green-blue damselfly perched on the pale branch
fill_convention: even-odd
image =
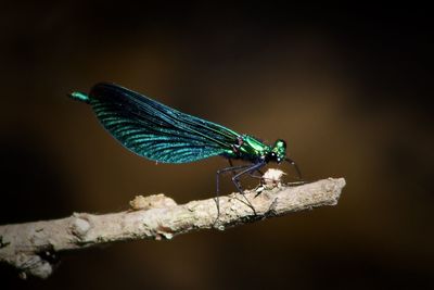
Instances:
[[[270,162],[290,163],[302,180],[298,166],[286,156],[286,142],[282,139],[272,146],[266,144],[253,136],[182,113],[111,83],[97,84],[89,93],[74,91],[69,97],[90,104],[102,126],[125,148],[142,157],[158,163],[189,163],[218,155],[227,159],[229,167],[216,173],[217,216],[220,213],[219,180],[224,173],[232,173],[232,182],[244,198],[240,178],[245,175],[260,178],[260,169]],[[232,160],[245,164],[233,166]],[[259,176],[255,175],[257,173]]]

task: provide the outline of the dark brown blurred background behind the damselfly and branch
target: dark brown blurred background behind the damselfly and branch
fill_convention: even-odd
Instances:
[[[101,80],[283,138],[306,179],[347,187],[335,207],[65,253],[48,280],[1,265],[1,289],[430,288],[431,17],[408,5],[2,3],[1,224],[123,211],[136,194],[214,196],[225,160],[155,165],[66,98]]]

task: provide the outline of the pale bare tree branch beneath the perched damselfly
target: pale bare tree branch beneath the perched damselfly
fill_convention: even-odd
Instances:
[[[137,197],[131,210],[114,214],[75,213],[54,220],[0,226],[0,262],[27,275],[49,277],[53,272],[50,255],[55,252],[94,247],[116,241],[145,238],[171,239],[197,229],[252,223],[322,205],[335,205],[345,179],[323,179],[296,187],[278,186],[246,191],[253,209],[240,193],[219,198],[218,220],[215,199],[176,202],[163,194]]]

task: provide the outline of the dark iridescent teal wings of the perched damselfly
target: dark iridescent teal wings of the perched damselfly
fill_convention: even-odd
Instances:
[[[130,151],[163,163],[224,154],[240,136],[114,84],[98,84],[87,100],[101,124]]]

